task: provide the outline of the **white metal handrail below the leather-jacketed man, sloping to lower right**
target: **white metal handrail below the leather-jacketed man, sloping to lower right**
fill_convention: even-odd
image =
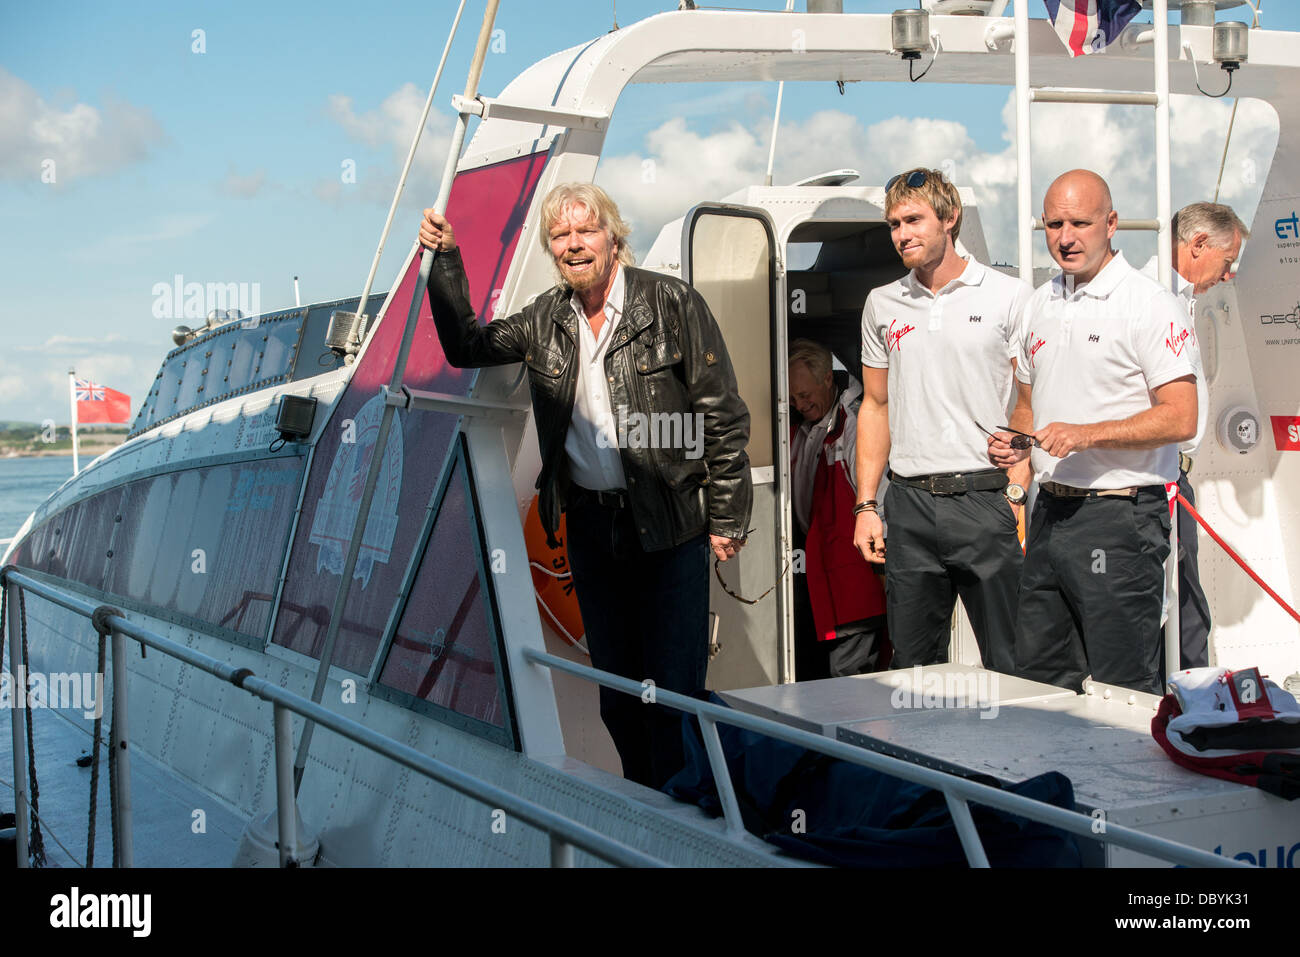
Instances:
[[[614,690],[624,692],[627,694],[642,697],[647,690],[646,685],[640,681],[620,677],[619,675],[611,675],[607,671],[598,671],[597,668],[592,668],[585,664],[577,664],[576,662],[559,658],[546,651],[537,651],[534,649],[525,648],[523,654],[526,661],[534,664],[549,667],[555,671],[563,671],[567,675],[573,675],[575,677],[581,677],[586,681],[592,681],[604,688],[612,688]],[[1208,850],[1192,848],[1186,844],[1178,844],[1164,837],[1154,837],[1152,835],[1143,833],[1141,831],[1123,827],[1122,824],[1105,822],[1104,831],[1098,833],[1097,820],[1087,814],[1057,807],[1056,805],[1036,801],[1022,794],[1000,791],[989,787],[988,784],[980,784],[948,771],[922,767],[920,765],[913,765],[911,762],[902,761],[901,758],[863,750],[862,748],[845,744],[844,741],[833,741],[824,735],[802,731],[788,724],[781,724],[780,722],[775,722],[770,718],[759,718],[758,715],[745,714],[744,711],[714,705],[707,701],[698,701],[697,698],[664,690],[663,688],[654,689],[654,701],[655,703],[677,709],[679,711],[686,711],[699,719],[699,728],[701,732],[703,732],[705,739],[705,750],[708,754],[708,763],[714,772],[714,780],[718,783],[718,796],[723,805],[723,814],[727,819],[727,827],[731,831],[744,830],[744,823],[741,822],[740,804],[736,800],[736,789],[731,779],[731,771],[727,767],[727,762],[723,757],[722,741],[718,737],[716,726],[719,723],[731,724],[732,727],[744,728],[746,731],[754,731],[768,737],[775,737],[779,741],[796,744],[810,750],[820,752],[822,754],[832,758],[840,758],[854,765],[861,765],[862,767],[870,767],[874,771],[881,771],[883,774],[888,774],[893,778],[902,778],[904,780],[913,781],[915,784],[924,784],[926,787],[941,791],[948,801],[949,809],[953,811],[953,823],[957,827],[958,837],[961,839],[962,848],[966,852],[966,859],[974,867],[988,867],[988,859],[984,854],[979,833],[975,830],[975,822],[970,815],[970,801],[988,807],[997,807],[998,810],[1017,814],[1022,818],[1030,818],[1031,820],[1037,820],[1044,824],[1050,824],[1052,827],[1058,827],[1062,831],[1070,831],[1092,840],[1115,844],[1143,854],[1160,857],[1170,861],[1171,863],[1187,865],[1190,867],[1249,866],[1243,861],[1212,854]]]

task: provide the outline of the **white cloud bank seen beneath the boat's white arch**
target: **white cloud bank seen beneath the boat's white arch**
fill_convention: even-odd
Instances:
[[[1231,104],[1201,96],[1171,103],[1170,150],[1174,208],[1212,199],[1218,179]],[[1041,211],[1052,179],[1079,166],[1105,176],[1124,218],[1154,217],[1154,117],[1148,108],[1106,105],[1034,107],[1034,207]],[[864,126],[841,111],[822,111],[783,122],[775,182],[794,182],[838,168],[861,172],[861,183],[884,183],[911,166],[949,168],[959,186],[975,191],[989,255],[1017,255],[1015,104],[1002,109],[1004,148],[980,150],[965,125],[952,120],[892,117]],[[646,135],[642,153],[602,160],[597,182],[610,190],[633,222],[633,244],[645,251],[664,222],[692,204],[718,199],[763,179],[768,125],[733,122],[701,134],[685,120],[664,122]],[[1277,146],[1277,116],[1257,100],[1242,100],[1219,199],[1249,222]],[[1131,257],[1154,251],[1147,234],[1123,234]],[[1041,237],[1035,261],[1050,264]]]

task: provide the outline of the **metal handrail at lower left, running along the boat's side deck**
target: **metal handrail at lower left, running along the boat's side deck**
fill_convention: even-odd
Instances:
[[[46,601],[58,605],[60,607],[82,615],[110,629],[113,637],[113,731],[114,745],[117,745],[114,752],[118,754],[120,759],[125,758],[130,753],[126,729],[125,693],[127,677],[125,640],[127,637],[134,638],[151,649],[161,651],[162,654],[185,662],[186,664],[199,668],[200,671],[205,671],[214,677],[229,681],[237,688],[242,688],[263,701],[269,701],[273,705],[276,789],[280,824],[280,854],[282,866],[298,863],[294,859],[296,840],[294,823],[296,814],[294,813],[292,737],[289,733],[290,711],[304,719],[312,720],[321,727],[329,728],[333,732],[355,741],[363,748],[368,748],[377,754],[382,754],[396,763],[411,768],[416,774],[438,781],[439,784],[443,784],[452,791],[458,791],[467,797],[474,798],[476,801],[481,801],[490,807],[499,807],[524,823],[532,824],[537,830],[545,832],[550,839],[551,863],[554,866],[572,866],[573,848],[578,848],[608,863],[625,867],[666,866],[663,861],[630,848],[621,841],[607,837],[585,824],[580,824],[578,822],[571,820],[569,818],[566,818],[547,807],[542,807],[533,801],[512,794],[495,784],[465,774],[464,771],[436,758],[430,758],[429,755],[422,754],[399,741],[394,741],[393,739],[386,737],[385,735],[381,735],[380,732],[350,718],[334,714],[308,698],[286,690],[266,679],[257,677],[248,668],[237,668],[233,664],[228,664],[226,662],[205,655],[202,651],[195,651],[191,648],[177,644],[176,641],[157,635],[148,628],[134,624],[121,614],[113,614],[117,612],[116,609],[110,609],[104,605],[95,606],[90,602],[82,601],[81,598],[64,594],[52,585],[46,585],[42,581],[29,577],[16,566],[5,566],[0,570],[0,588],[3,586],[9,586],[12,589],[10,594],[16,593],[17,589],[26,589]],[[10,601],[9,607],[10,664],[17,667],[21,655],[17,602]],[[121,707],[121,711],[118,711],[118,707]],[[16,780],[17,787],[14,798],[18,818],[16,822],[18,839],[18,866],[25,867],[27,865],[26,836],[30,830],[30,819],[27,817],[30,809],[27,806],[26,739],[18,733],[18,710],[20,709],[16,707],[10,716],[14,727],[14,770],[16,772],[20,772],[17,774],[18,780]],[[120,765],[120,768],[118,774],[114,775],[114,785],[120,788],[118,793],[114,794],[114,797],[117,797],[116,804],[121,811],[121,836],[118,843],[120,848],[125,848],[122,852],[124,866],[130,866],[130,768],[129,766],[122,765]]]

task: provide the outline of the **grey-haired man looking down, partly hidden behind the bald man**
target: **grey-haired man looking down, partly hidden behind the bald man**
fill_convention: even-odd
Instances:
[[[1192,456],[1205,436],[1209,420],[1209,386],[1201,369],[1200,343],[1196,338],[1196,296],[1232,277],[1232,264],[1242,255],[1242,241],[1251,230],[1222,203],[1192,203],[1174,213],[1170,233],[1174,244],[1174,293],[1187,309],[1190,333],[1184,348],[1196,369],[1196,436],[1178,446],[1178,492],[1196,507],[1196,493],[1188,480]],[[1152,256],[1141,272],[1158,278],[1158,257]],[[1186,508],[1178,510],[1178,622],[1183,668],[1209,664],[1210,606],[1201,589],[1197,568],[1196,521]],[[1165,671],[1173,671],[1167,664]]]

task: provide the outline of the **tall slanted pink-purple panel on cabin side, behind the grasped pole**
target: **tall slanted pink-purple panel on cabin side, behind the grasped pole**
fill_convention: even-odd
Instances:
[[[456,177],[447,218],[456,228],[480,316],[488,315],[491,291],[504,282],[545,163],[545,153],[533,153]],[[417,273],[419,260],[413,260],[316,446],[273,636],[276,644],[313,658],[320,657],[325,644],[384,411],[380,385],[387,385],[393,374]],[[447,365],[424,290],[420,300],[420,321],[403,381],[413,389],[464,394],[473,372]],[[346,433],[348,421],[352,425]],[[347,671],[365,674],[370,667],[455,426],[456,416],[451,413],[396,413],[339,627],[334,663]],[[344,434],[352,441],[343,442]]]

